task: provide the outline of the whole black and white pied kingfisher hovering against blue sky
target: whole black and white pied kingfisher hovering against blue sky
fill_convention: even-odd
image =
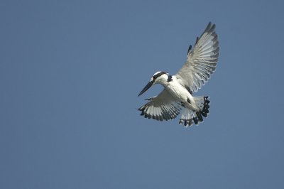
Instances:
[[[175,75],[168,72],[155,72],[148,85],[138,96],[154,84],[163,85],[164,90],[158,96],[148,98],[148,103],[138,110],[149,119],[175,119],[181,113],[180,124],[191,126],[203,121],[209,113],[209,99],[192,97],[207,82],[216,69],[219,58],[219,42],[214,31],[215,24],[209,23],[202,35],[197,37],[195,46],[187,50],[187,60]]]

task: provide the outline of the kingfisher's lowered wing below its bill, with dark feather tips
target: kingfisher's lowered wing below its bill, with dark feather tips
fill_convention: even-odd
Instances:
[[[175,101],[165,89],[157,97],[152,97],[149,100],[151,101],[138,109],[142,116],[149,119],[160,121],[175,119],[182,109],[180,102]]]

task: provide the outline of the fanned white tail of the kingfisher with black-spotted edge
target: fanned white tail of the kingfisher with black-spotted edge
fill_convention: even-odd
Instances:
[[[184,124],[186,127],[192,124],[198,125],[203,121],[203,117],[207,117],[209,114],[209,99],[208,97],[193,97],[197,107],[200,111],[184,108],[181,112],[180,124]]]

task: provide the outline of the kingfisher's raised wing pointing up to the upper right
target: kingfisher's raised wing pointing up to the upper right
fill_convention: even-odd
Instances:
[[[209,23],[200,38],[197,37],[193,50],[188,48],[187,60],[175,77],[181,85],[197,92],[216,69],[219,58],[218,36],[215,24]]]

